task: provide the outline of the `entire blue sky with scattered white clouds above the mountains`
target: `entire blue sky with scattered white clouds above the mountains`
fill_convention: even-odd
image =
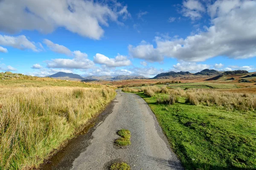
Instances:
[[[0,72],[256,71],[256,0],[0,0]]]

